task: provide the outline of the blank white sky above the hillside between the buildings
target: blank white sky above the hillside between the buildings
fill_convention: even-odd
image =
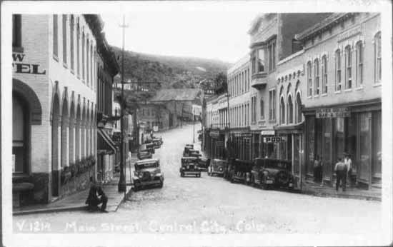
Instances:
[[[156,3],[157,4],[157,3]],[[260,13],[252,2],[204,2],[129,6],[124,49],[234,63],[249,52],[249,30]],[[109,44],[121,47],[121,14],[101,14]]]

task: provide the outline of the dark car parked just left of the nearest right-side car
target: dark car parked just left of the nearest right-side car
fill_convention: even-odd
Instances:
[[[239,159],[232,160],[231,166],[229,166],[229,181],[231,183],[251,183],[251,170],[252,161],[244,161]]]

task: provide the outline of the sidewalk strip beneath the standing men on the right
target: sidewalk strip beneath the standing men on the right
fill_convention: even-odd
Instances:
[[[321,186],[320,183],[315,183],[312,180],[306,180],[302,183],[302,193],[322,197],[382,201],[382,191],[380,188],[371,188],[367,190],[363,188],[349,187],[346,191],[342,191],[342,188],[339,188],[339,191],[336,191],[335,186]]]

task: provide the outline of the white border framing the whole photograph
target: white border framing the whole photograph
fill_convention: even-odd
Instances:
[[[54,235],[12,235],[11,216],[11,14],[49,14],[63,13],[109,13],[121,14],[126,9],[133,11],[167,11],[174,4],[181,4],[184,10],[225,11],[227,6],[236,6],[237,11],[245,11],[246,4],[255,4],[261,12],[334,12],[334,11],[380,11],[382,13],[382,225],[384,232],[375,238],[340,235],[299,235],[299,234],[242,234],[242,235],[153,235],[135,234],[61,234]],[[392,5],[390,1],[164,1],[164,2],[125,2],[125,1],[5,1],[1,4],[1,174],[3,186],[1,195],[4,202],[3,213],[4,246],[309,246],[319,243],[324,246],[335,245],[389,245],[392,243]],[[247,30],[244,30],[247,33]],[[8,48],[9,47],[9,48]],[[386,51],[386,52],[385,52]],[[346,210],[343,208],[343,210]],[[348,226],[351,227],[351,226]],[[372,226],[370,226],[372,228]],[[110,237],[109,237],[110,236]],[[146,242],[149,239],[149,243]],[[321,241],[323,239],[323,242]]]

